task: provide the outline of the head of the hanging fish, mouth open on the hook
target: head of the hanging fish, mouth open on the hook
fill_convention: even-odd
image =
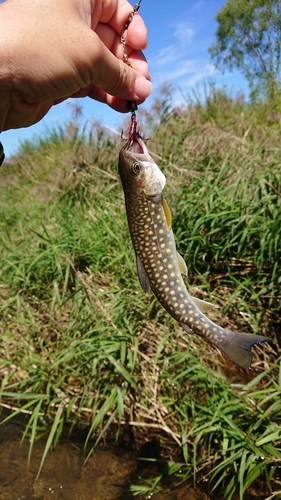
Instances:
[[[131,150],[121,149],[119,153],[119,174],[124,191],[159,202],[166,184],[166,177],[148,153],[143,139],[138,136]]]

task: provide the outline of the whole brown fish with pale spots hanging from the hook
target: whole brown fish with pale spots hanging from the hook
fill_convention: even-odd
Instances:
[[[142,290],[151,289],[187,333],[199,335],[237,365],[250,368],[252,346],[270,339],[217,325],[205,315],[217,306],[188,293],[183,280],[187,266],[177,252],[171,212],[163,196],[166,177],[134,127],[119,152],[118,170]]]

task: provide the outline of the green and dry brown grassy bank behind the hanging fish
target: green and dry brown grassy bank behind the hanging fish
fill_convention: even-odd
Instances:
[[[164,96],[138,118],[167,176],[193,294],[220,305],[217,323],[274,346],[257,347],[252,370],[240,369],[142,293],[121,141],[71,123],[2,167],[0,404],[8,418],[29,416],[30,456],[46,436],[41,468],[63,428],[76,426],[90,449],[159,441],[161,473],[132,485],[135,495],[172,476],[209,480],[214,498],[252,498],[257,484],[259,498],[278,498],[280,117],[211,87],[204,104],[193,95],[179,111]]]

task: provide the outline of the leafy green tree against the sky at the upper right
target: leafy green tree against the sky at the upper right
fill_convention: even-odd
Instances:
[[[216,20],[216,42],[209,49],[216,66],[242,70],[252,96],[280,99],[281,1],[228,0]]]

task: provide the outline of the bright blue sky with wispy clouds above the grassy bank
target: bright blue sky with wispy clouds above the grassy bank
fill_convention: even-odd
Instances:
[[[182,93],[200,88],[208,77],[219,86],[227,85],[233,93],[247,88],[241,74],[223,75],[216,71],[208,53],[208,47],[215,40],[215,16],[225,3],[226,0],[142,0],[139,12],[149,33],[145,56],[153,83],[152,95],[145,106],[149,107],[157,96],[157,89],[166,82],[175,87],[177,104]],[[83,122],[98,120],[102,125],[121,130],[123,114],[89,98],[77,101],[83,106]],[[65,123],[71,115],[73,102],[71,99],[54,106],[40,123],[32,127],[3,132],[1,141],[6,155],[15,153],[20,141],[32,139],[34,135]]]

